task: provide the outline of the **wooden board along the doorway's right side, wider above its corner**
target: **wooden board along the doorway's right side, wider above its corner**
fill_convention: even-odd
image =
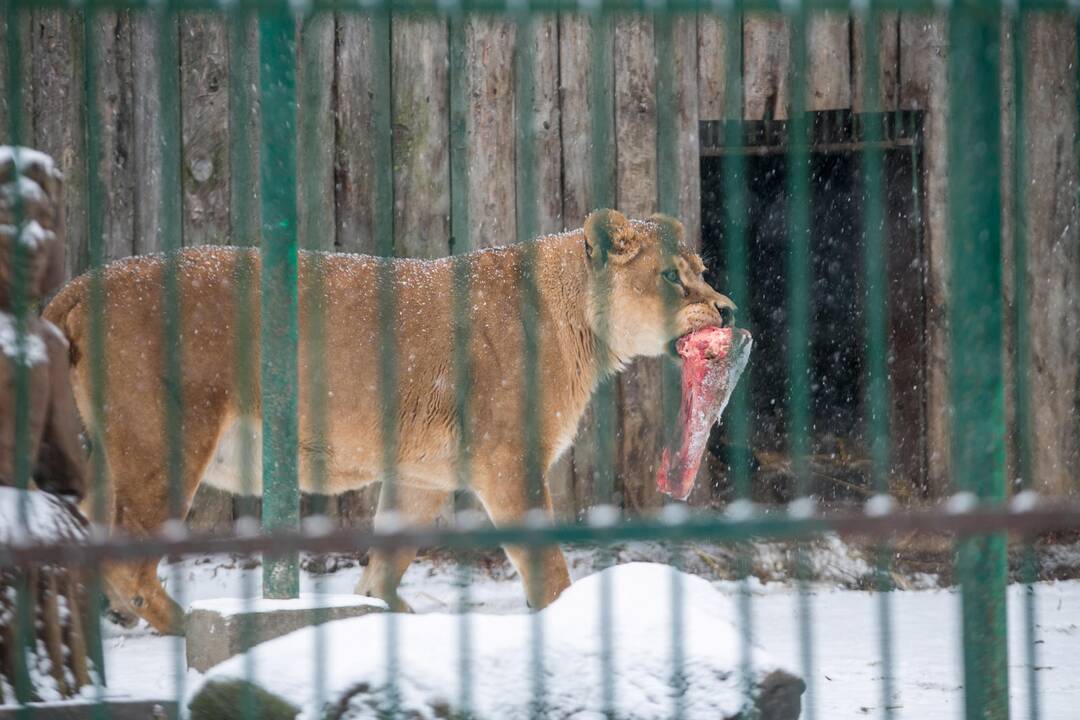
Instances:
[[[946,26],[937,15],[901,15],[900,103],[928,111],[923,151],[927,288],[927,485],[949,491],[948,399],[948,165]]]

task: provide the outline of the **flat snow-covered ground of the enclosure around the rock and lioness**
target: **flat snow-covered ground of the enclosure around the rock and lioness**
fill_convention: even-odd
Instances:
[[[708,558],[712,548],[693,548],[683,557],[691,570]],[[659,559],[665,551],[649,545],[623,547],[618,561]],[[755,562],[773,558],[783,563],[783,551],[759,548]],[[595,552],[569,553],[576,579],[597,565]],[[765,560],[762,560],[765,558]],[[812,698],[819,718],[865,718],[881,711],[880,597],[850,589],[868,567],[836,540],[813,554],[816,576],[808,594],[813,636]],[[310,566],[309,566],[310,567]],[[756,566],[757,567],[757,566]],[[306,573],[305,592],[349,593],[362,568],[349,558],[332,559],[330,572]],[[260,570],[248,560],[230,557],[189,559],[160,569],[171,592],[190,603],[195,599],[241,597],[257,592]],[[402,595],[417,612],[448,612],[459,607],[462,571],[442,559],[421,559],[405,575]],[[518,579],[504,562],[487,562],[469,572],[469,606],[475,612],[518,613],[525,601]],[[702,573],[706,574],[706,573]],[[714,587],[734,598],[738,585],[713,581]],[[616,587],[616,594],[619,593]],[[658,588],[659,593],[666,592]],[[799,642],[799,593],[791,582],[752,582],[753,631],[779,664],[804,671]],[[1012,717],[1026,718],[1027,687],[1022,586],[1010,586],[1010,684]],[[1038,670],[1043,718],[1069,718],[1080,707],[1080,581],[1039,583],[1035,588],[1038,633]],[[620,598],[625,602],[625,598]],[[953,589],[914,589],[888,596],[893,635],[896,718],[960,718],[963,690],[959,595]],[[688,634],[694,628],[688,626]],[[153,635],[145,627],[131,630],[109,626],[106,641],[110,693],[136,696],[175,696],[198,682],[185,671],[184,641]],[[378,640],[377,640],[378,641]],[[658,643],[667,643],[658,638]],[[523,662],[527,662],[524,658]],[[299,669],[299,668],[298,668]],[[314,668],[311,668],[314,671]],[[177,688],[177,681],[183,685]]]

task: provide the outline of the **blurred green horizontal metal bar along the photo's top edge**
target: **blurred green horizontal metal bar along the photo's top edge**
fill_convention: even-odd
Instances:
[[[257,11],[261,14],[295,14],[298,8],[306,13],[332,11],[433,13],[450,15],[461,12],[519,14],[522,12],[582,12],[582,13],[734,13],[780,12],[789,10],[791,2],[783,0],[13,0],[21,8],[95,8],[109,10],[151,10],[167,6],[185,11]],[[851,10],[850,0],[801,0],[807,12]],[[999,0],[982,0],[967,4],[962,12],[997,12],[1004,5]],[[875,9],[902,12],[934,12],[942,9],[939,0],[877,0]],[[1062,11],[1072,9],[1070,0],[1018,0],[1014,6],[1021,11]]]

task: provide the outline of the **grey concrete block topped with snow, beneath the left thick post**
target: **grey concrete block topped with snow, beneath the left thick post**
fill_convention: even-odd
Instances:
[[[188,667],[205,673],[260,642],[318,623],[382,612],[359,595],[301,595],[294,600],[220,598],[191,604],[186,621]]]

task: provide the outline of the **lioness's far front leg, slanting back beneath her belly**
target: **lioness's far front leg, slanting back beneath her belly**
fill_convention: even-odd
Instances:
[[[383,486],[384,487],[384,486]],[[394,510],[409,525],[428,525],[435,519],[446,505],[449,490],[427,490],[399,485],[394,488]],[[384,527],[389,512],[387,493],[379,493],[379,506],[375,512],[375,529]],[[411,612],[408,603],[397,595],[397,585],[409,565],[416,559],[416,547],[400,547],[393,553],[373,549],[364,568],[364,574],[356,584],[356,595],[366,595],[383,600],[391,610]]]

